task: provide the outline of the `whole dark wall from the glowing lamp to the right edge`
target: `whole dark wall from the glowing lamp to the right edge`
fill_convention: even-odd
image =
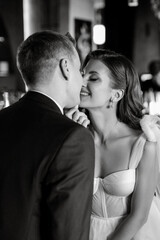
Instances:
[[[126,55],[139,74],[148,71],[150,61],[160,59],[160,20],[154,16],[150,0],[139,0],[138,7],[129,7],[127,0],[106,0],[103,16],[104,47]]]

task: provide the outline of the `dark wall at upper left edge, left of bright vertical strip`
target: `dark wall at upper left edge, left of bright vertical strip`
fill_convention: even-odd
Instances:
[[[5,32],[5,43],[0,43],[1,48],[6,51],[5,59],[9,61],[9,75],[7,77],[0,77],[0,88],[18,89],[23,88],[23,83],[19,78],[16,68],[15,55],[17,46],[23,39],[23,12],[21,0],[1,0],[0,1],[0,22],[1,29]],[[0,31],[1,31],[0,29]],[[0,53],[1,54],[1,53]],[[3,57],[3,56],[1,56]]]

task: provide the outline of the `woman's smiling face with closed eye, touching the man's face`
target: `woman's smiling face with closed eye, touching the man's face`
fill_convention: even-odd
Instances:
[[[90,60],[84,68],[80,107],[86,109],[106,108],[112,93],[110,85],[109,69],[99,60]]]

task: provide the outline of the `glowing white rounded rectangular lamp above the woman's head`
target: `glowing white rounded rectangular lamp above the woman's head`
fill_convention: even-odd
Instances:
[[[106,41],[106,28],[102,24],[96,24],[93,27],[93,41],[97,45],[104,44]]]

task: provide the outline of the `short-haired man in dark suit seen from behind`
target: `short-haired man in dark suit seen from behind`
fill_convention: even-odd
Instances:
[[[79,104],[71,39],[37,32],[18,48],[28,92],[0,112],[0,239],[88,240],[94,143],[63,115]]]

